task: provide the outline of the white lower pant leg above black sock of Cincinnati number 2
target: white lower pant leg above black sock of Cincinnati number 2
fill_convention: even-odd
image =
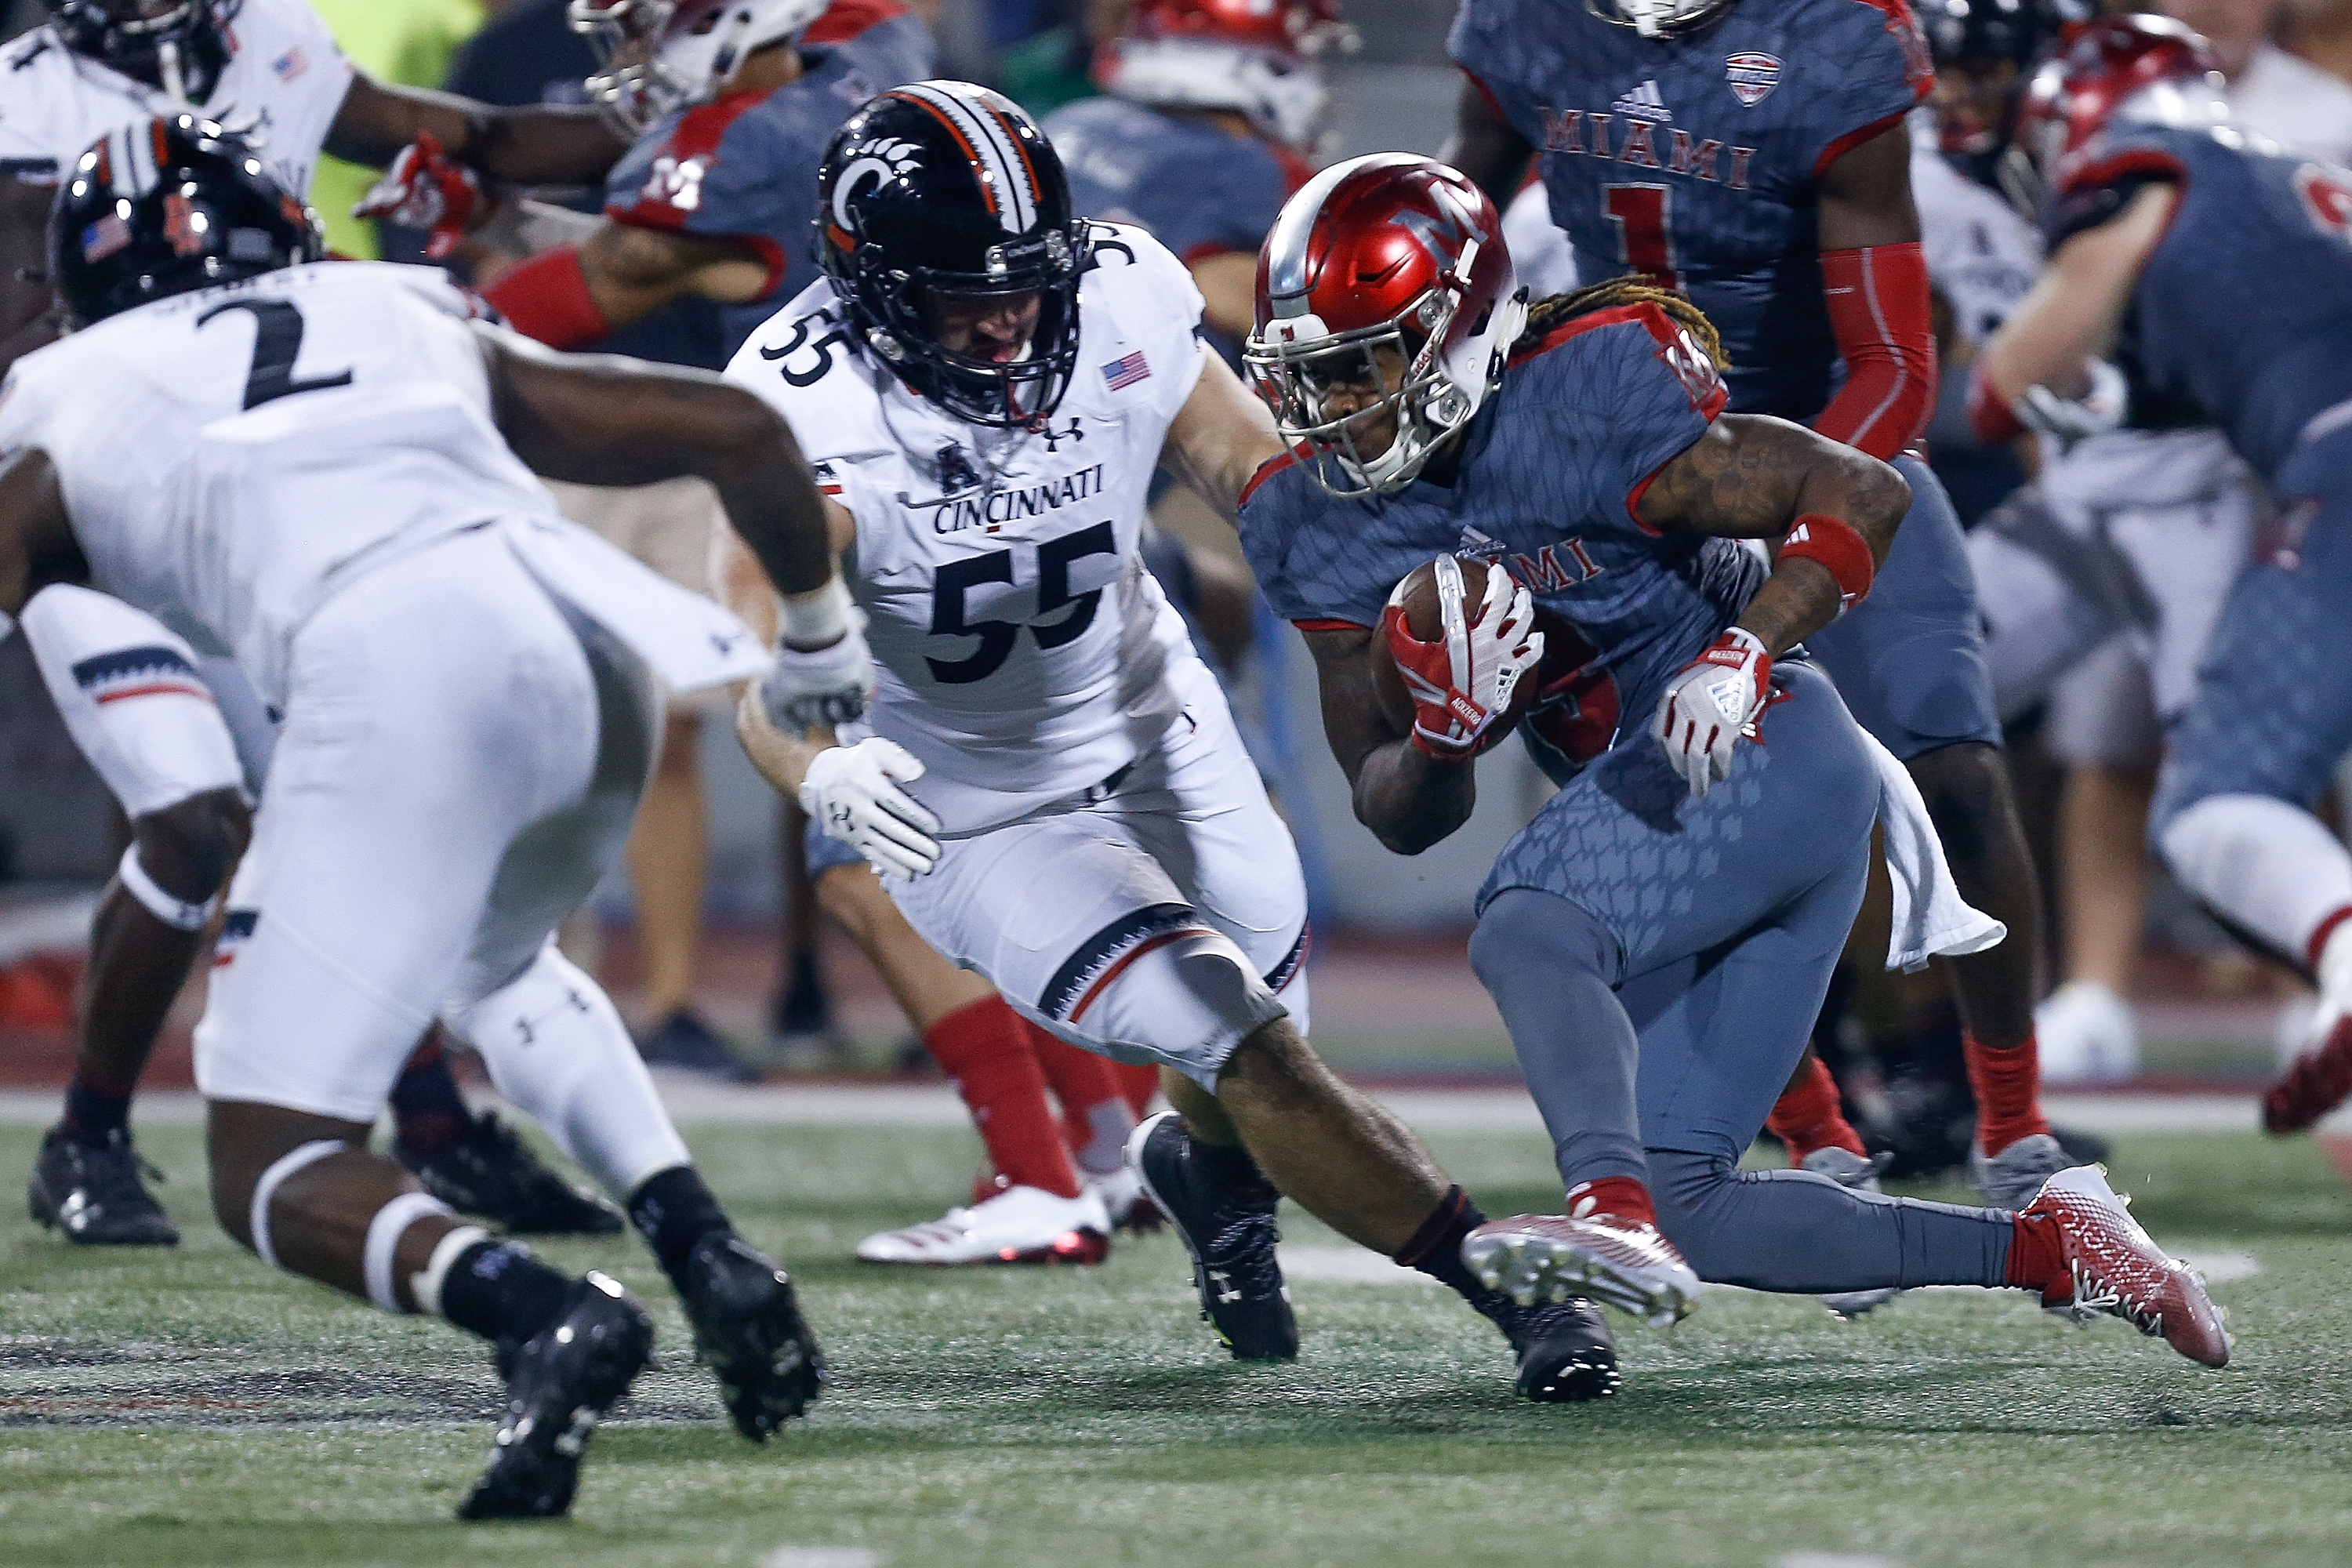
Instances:
[[[621,1016],[553,943],[522,978],[442,1023],[482,1053],[499,1093],[616,1199],[689,1164]]]

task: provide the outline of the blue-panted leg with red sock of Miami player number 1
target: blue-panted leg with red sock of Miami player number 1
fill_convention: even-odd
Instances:
[[[2042,1117],[2034,1046],[2042,896],[1999,748],[1959,520],[1924,463],[1898,458],[1896,468],[1912,487],[1912,510],[1877,585],[1806,644],[1863,729],[1910,766],[1962,898],[2013,933],[1943,966],[1966,1027],[1978,1190],[2016,1199],[2065,1161]]]

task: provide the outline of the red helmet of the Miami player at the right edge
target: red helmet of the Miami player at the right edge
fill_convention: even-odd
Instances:
[[[2220,59],[2199,33],[2171,16],[2100,16],[2067,28],[2042,61],[2018,106],[2016,141],[2044,190],[2065,160],[2114,120],[2220,125]]]

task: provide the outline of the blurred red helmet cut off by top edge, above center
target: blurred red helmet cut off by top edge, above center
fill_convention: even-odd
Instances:
[[[1310,150],[1329,103],[1315,61],[1355,45],[1338,0],[1138,0],[1094,75],[1136,103],[1240,110]]]

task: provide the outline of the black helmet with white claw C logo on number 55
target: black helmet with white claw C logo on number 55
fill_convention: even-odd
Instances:
[[[1054,146],[985,87],[896,87],[826,146],[816,261],[866,346],[957,418],[1016,428],[1061,404],[1091,256]],[[967,336],[957,322],[990,308],[1025,315],[1033,299],[1035,327],[1002,350],[1011,357],[948,346]]]

